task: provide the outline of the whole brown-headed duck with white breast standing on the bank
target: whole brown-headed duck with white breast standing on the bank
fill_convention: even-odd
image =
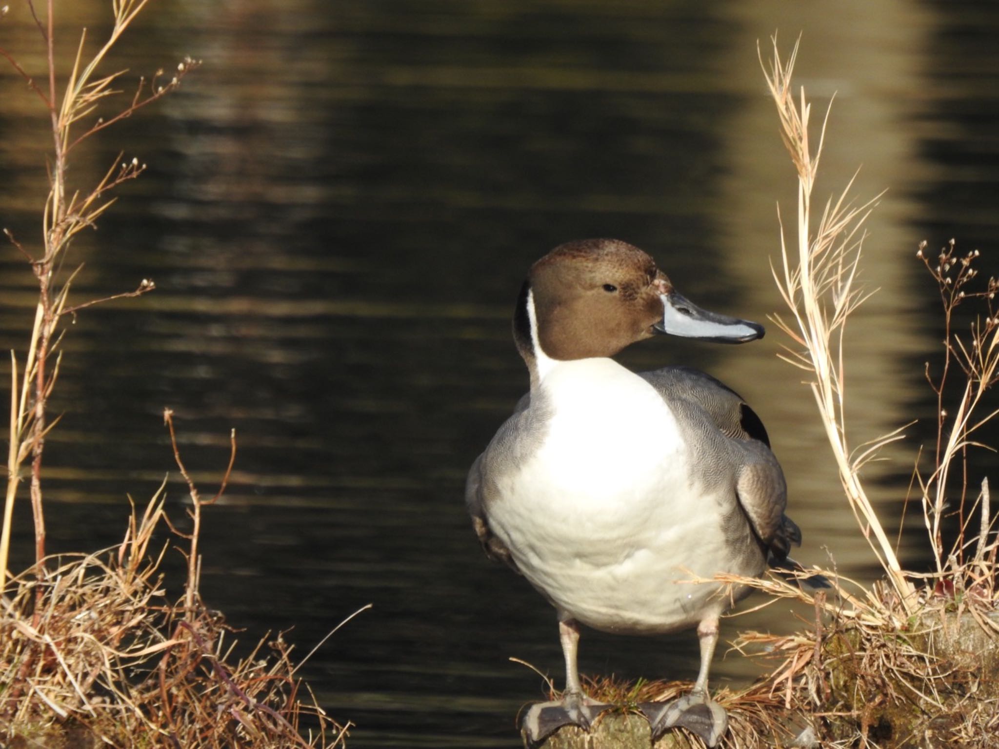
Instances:
[[[530,392],[473,464],[466,500],[487,553],[557,611],[565,691],[527,712],[532,742],[568,723],[588,729],[607,707],[579,681],[581,623],[622,634],[696,626],[693,690],[645,712],[655,738],[680,725],[716,745],[727,728],[707,693],[718,618],[749,591],[691,580],[759,575],[800,542],[766,430],[738,394],[697,370],[636,374],[610,359],[656,333],[743,343],[763,329],[697,308],[616,240],[555,248],[517,300]]]

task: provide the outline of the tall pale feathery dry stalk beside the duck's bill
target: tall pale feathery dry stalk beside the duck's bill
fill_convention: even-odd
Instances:
[[[854,287],[863,240],[861,227],[875,201],[855,205],[849,191],[853,180],[839,197],[826,201],[817,227],[812,230],[812,192],[818,174],[822,145],[825,138],[826,119],[823,121],[818,146],[811,151],[808,136],[811,105],[805,99],[804,89],[795,101],[791,91],[791,74],[798,45],[786,63],[780,60],[776,38],[773,42],[773,59],[769,69],[760,64],[769,86],[770,94],[780,117],[781,137],[791,156],[798,176],[797,248],[796,263],[791,260],[781,222],[780,247],[782,271],[778,274],[771,267],[781,297],[793,317],[793,325],[780,316],[773,316],[774,323],[799,347],[786,349],[781,358],[795,367],[814,374],[809,382],[829,445],[832,448],[840,480],[853,511],[871,550],[888,574],[896,594],[903,601],[906,611],[913,608],[914,590],[899,565],[894,548],[884,532],[874,506],[864,491],[859,471],[877,450],[900,438],[898,430],[873,442],[861,445],[859,454],[851,452],[846,436],[846,417],[843,408],[845,370],[843,363],[843,334],[849,316],[869,295]],[[875,199],[876,200],[876,199]],[[778,214],[779,217],[779,214]],[[873,537],[871,537],[873,534]]]

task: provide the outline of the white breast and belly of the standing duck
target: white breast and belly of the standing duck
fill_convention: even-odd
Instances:
[[[680,581],[724,568],[724,498],[696,485],[668,404],[608,359],[558,363],[539,388],[543,441],[498,481],[490,509],[519,569],[598,629],[698,621],[717,585]]]

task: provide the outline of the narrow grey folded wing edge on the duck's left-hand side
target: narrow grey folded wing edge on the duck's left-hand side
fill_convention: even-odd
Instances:
[[[509,469],[513,465],[516,426],[529,404],[530,394],[527,393],[517,402],[513,415],[500,426],[489,447],[472,463],[465,481],[465,506],[472,516],[472,526],[483,544],[483,550],[491,559],[503,562],[516,572],[520,570],[509,549],[490,528],[489,506],[496,490],[496,471]]]

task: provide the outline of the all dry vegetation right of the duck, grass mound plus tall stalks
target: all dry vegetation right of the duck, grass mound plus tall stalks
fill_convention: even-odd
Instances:
[[[791,95],[796,52],[797,46],[782,63],[774,43],[772,64],[764,67],[798,172],[796,252],[782,242],[782,268],[774,272],[791,317],[774,320],[793,342],[784,359],[812,377],[809,384],[848,504],[885,580],[865,586],[824,571],[832,589],[813,595],[777,577],[725,578],[772,597],[802,601],[815,611],[814,620],[793,635],[744,633],[735,646],[777,660],[757,686],[779,697],[787,714],[809,720],[821,746],[994,746],[999,735],[999,541],[988,481],[969,494],[967,457],[970,449],[983,446],[976,432],[999,413],[985,406],[986,392],[999,381],[999,316],[993,306],[999,282],[989,279],[984,289],[972,291],[979,253],[958,255],[953,241],[936,262],[928,258],[925,243],[917,253],[940,290],[945,352],[939,374],[926,368],[937,398],[937,439],[934,449],[916,455],[912,484],[919,489],[936,569],[906,571],[860,476],[864,463],[898,439],[901,429],[851,450],[844,419],[843,332],[865,299],[855,280],[862,224],[873,203],[857,205],[849,195],[851,181],[825,203],[813,228],[812,191],[822,139],[811,152],[810,107],[803,90],[797,99]],[[983,314],[959,335],[954,311],[971,302],[983,305]],[[963,382],[949,380],[958,375]],[[948,516],[957,520],[949,550],[944,540]]]

